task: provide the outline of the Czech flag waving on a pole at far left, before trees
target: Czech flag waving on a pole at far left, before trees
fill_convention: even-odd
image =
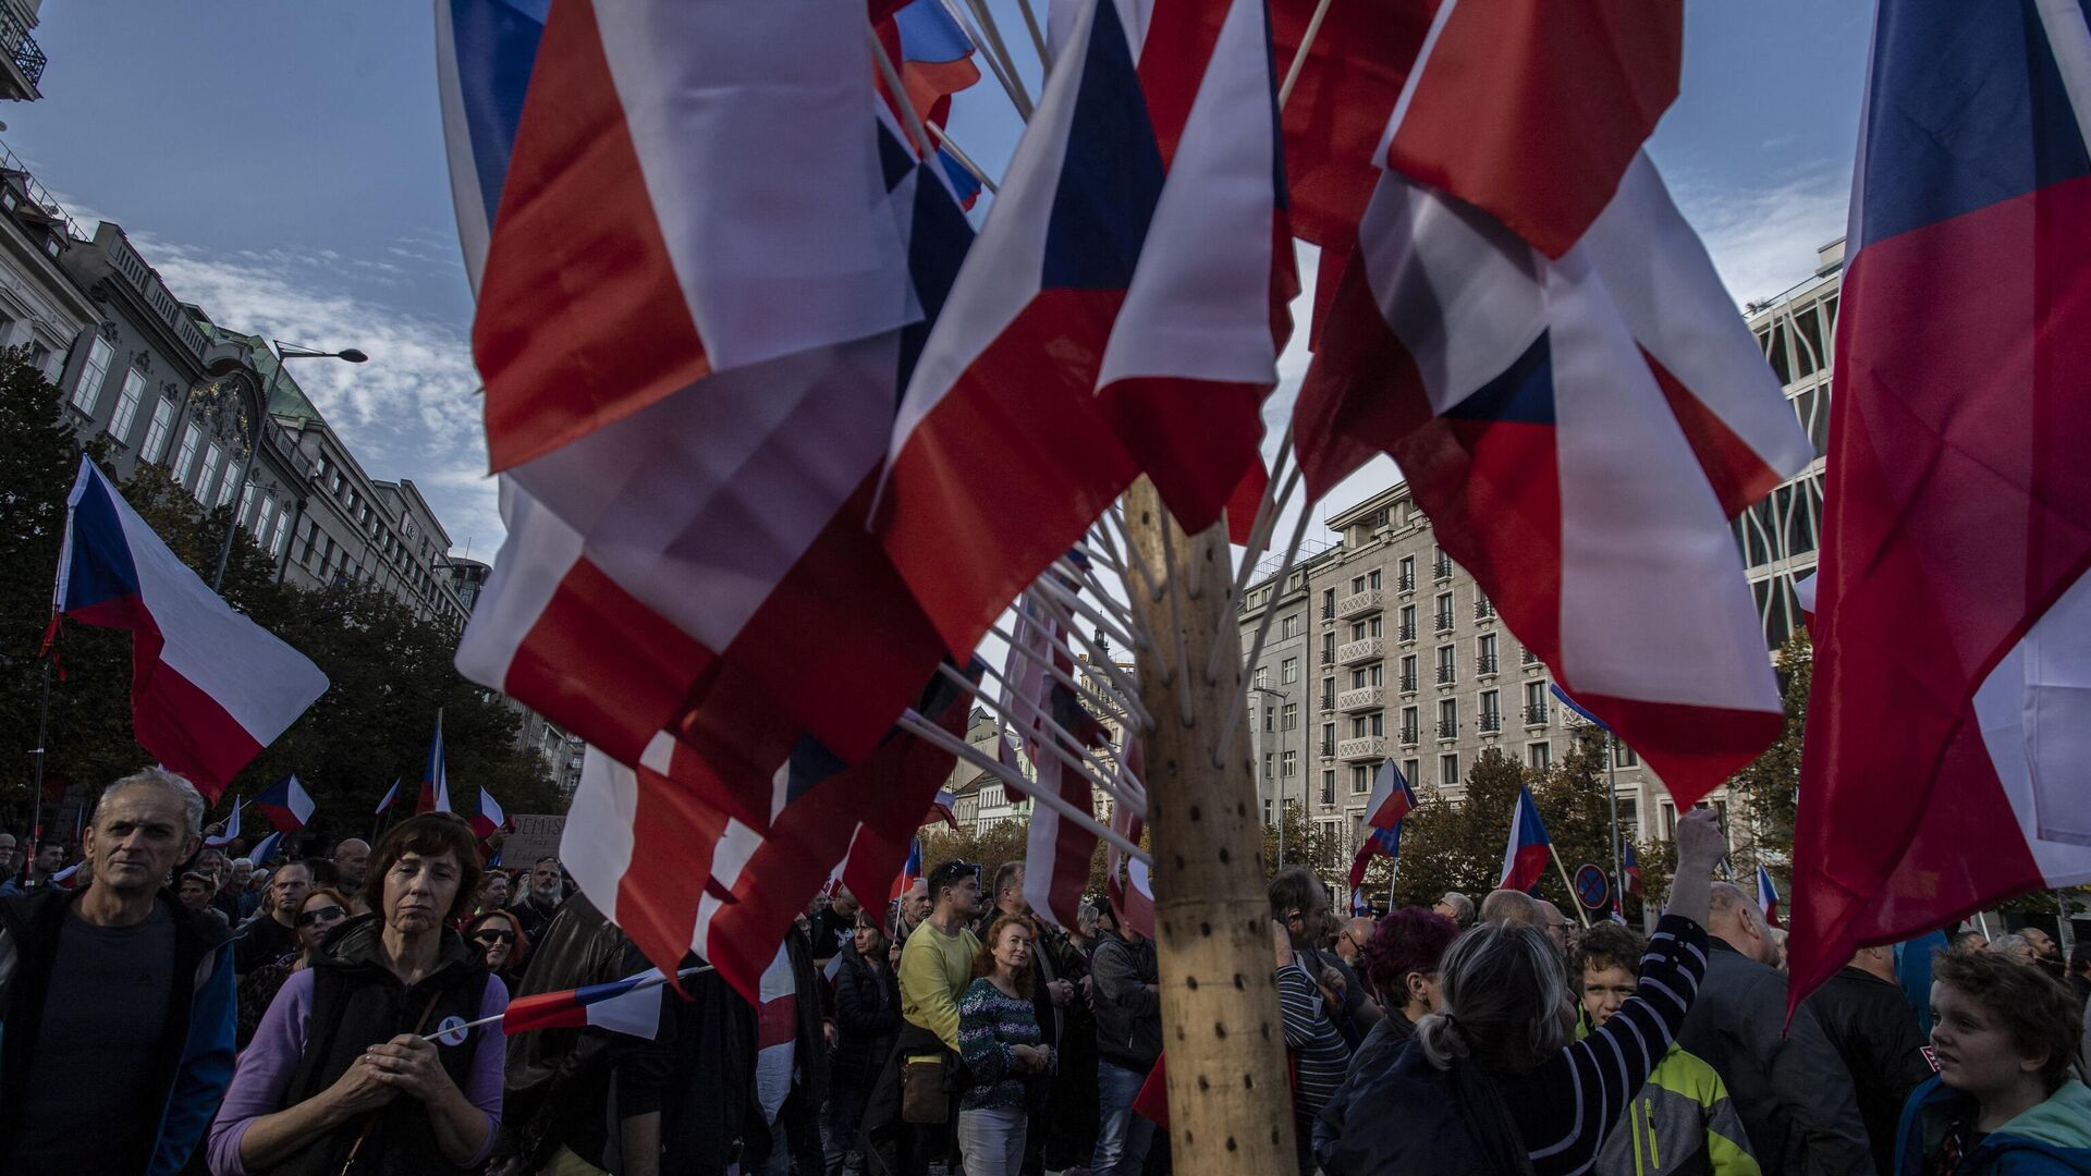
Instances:
[[[132,737],[213,801],[326,693],[309,657],[211,592],[88,458],[65,500],[54,611],[132,632]]]

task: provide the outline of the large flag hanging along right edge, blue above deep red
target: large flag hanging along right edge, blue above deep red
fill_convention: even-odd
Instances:
[[[1880,2],[1836,322],[1794,1000],[1855,946],[2091,881],[2087,115],[2083,4]]]

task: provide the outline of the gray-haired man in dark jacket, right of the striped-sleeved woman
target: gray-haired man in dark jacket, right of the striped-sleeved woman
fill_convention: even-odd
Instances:
[[[1786,975],[1773,967],[1779,956],[1756,898],[1715,883],[1708,919],[1706,981],[1677,1042],[1727,1082],[1769,1176],[1871,1172],[1851,1073],[1813,1007],[1802,1002],[1786,1027]]]

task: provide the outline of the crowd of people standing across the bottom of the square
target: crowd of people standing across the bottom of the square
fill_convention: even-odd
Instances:
[[[510,998],[648,967],[558,860],[487,868],[424,814],[261,873],[201,847],[203,812],[148,768],[73,875],[0,835],[0,1172],[1169,1170],[1156,946],[1102,900],[1037,919],[1020,862],[941,862],[880,908],[834,887],[759,1004],[700,969],[640,1032],[510,1038]],[[1301,1176],[2091,1174],[2085,944],[1865,948],[1788,1023],[1725,852],[1679,822],[1646,935],[1518,891],[1336,919],[1280,870]]]

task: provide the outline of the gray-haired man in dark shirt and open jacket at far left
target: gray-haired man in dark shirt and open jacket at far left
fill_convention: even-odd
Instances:
[[[0,1172],[188,1163],[232,1080],[232,948],[165,889],[203,797],[163,768],[102,789],[86,894],[0,898]],[[111,1065],[121,1059],[121,1065]]]

